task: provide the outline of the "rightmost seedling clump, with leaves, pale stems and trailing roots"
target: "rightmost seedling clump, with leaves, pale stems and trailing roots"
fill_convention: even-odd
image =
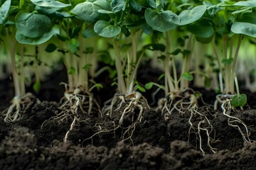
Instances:
[[[255,5],[255,1],[225,1],[218,4],[221,10],[218,10],[213,18],[216,30],[213,49],[220,70],[219,84],[222,93],[216,96],[214,108],[217,110],[218,103],[221,104],[223,114],[228,118],[228,125],[238,129],[247,142],[250,142],[250,132],[247,126],[242,120],[230,114],[235,107],[242,108],[247,103],[247,96],[240,94],[239,91],[236,67],[242,39],[245,35],[256,37],[255,11],[253,9],[256,7]],[[222,54],[218,49],[222,50]]]

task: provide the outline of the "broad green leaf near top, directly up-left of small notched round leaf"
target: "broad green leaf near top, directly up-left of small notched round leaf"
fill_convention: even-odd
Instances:
[[[98,12],[99,9],[101,9],[100,6],[97,6],[90,1],[85,1],[76,5],[71,12],[75,13],[83,21],[95,23],[98,18],[100,18],[100,13]]]

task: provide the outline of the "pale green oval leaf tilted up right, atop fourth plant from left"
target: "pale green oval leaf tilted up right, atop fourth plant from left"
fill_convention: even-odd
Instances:
[[[189,23],[193,23],[200,19],[203,16],[203,13],[206,12],[206,6],[201,5],[201,6],[196,6],[194,8],[191,8],[191,10],[185,10],[181,11],[181,13],[178,15],[180,18],[180,23],[179,26],[184,26]]]

